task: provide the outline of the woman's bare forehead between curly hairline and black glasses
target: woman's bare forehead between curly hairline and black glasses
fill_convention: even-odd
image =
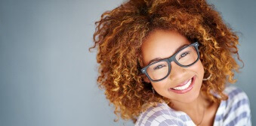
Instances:
[[[154,58],[168,58],[185,44],[190,44],[189,40],[177,31],[153,31],[141,46],[143,65]]]

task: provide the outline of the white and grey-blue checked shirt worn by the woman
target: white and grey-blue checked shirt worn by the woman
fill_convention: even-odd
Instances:
[[[224,93],[227,101],[221,101],[214,117],[214,126],[251,125],[251,110],[247,95],[236,86],[227,86]],[[190,116],[184,112],[159,103],[157,107],[150,107],[140,113],[135,126],[169,126],[196,125]]]

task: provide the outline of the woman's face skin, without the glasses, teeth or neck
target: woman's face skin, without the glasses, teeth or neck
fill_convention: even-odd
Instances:
[[[150,61],[154,58],[171,57],[182,46],[187,44],[190,44],[190,41],[177,31],[154,31],[141,46],[143,65],[149,65]],[[187,68],[180,67],[175,62],[171,62],[171,73],[165,80],[150,82],[147,77],[144,80],[147,83],[151,83],[159,95],[169,98],[171,101],[190,103],[199,96],[203,75],[204,68],[200,60]],[[186,83],[189,87],[184,89],[184,87],[187,87],[184,85]],[[180,90],[172,89],[177,86],[182,88]]]

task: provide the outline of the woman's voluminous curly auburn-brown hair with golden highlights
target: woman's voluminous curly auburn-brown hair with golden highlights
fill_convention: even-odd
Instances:
[[[95,25],[94,46],[89,51],[97,47],[97,84],[115,107],[115,121],[121,115],[135,123],[148,107],[159,102],[170,104],[167,98],[153,94],[140,72],[140,46],[155,30],[174,30],[188,40],[199,41],[205,77],[211,74],[201,92],[211,101],[226,100],[225,85],[236,83],[234,72],[240,72],[240,67],[234,57],[242,62],[237,47],[239,37],[224,23],[214,5],[204,0],[125,1],[104,12]],[[221,97],[214,97],[212,91]]]

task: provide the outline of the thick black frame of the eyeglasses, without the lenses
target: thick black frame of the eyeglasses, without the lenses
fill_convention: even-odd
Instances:
[[[193,62],[193,63],[190,64],[190,65],[181,65],[179,62],[177,62],[177,60],[176,60],[175,57],[176,57],[176,55],[177,55],[180,51],[182,51],[183,49],[186,49],[186,48],[189,47],[189,46],[195,46],[198,57],[197,57],[196,61]],[[189,44],[189,45],[187,45],[187,46],[184,46],[183,48],[181,48],[178,52],[174,53],[174,55],[172,55],[172,56],[169,57],[169,58],[164,58],[164,59],[161,59],[161,60],[159,60],[159,61],[157,61],[157,62],[151,63],[150,65],[154,65],[154,64],[156,64],[156,63],[158,63],[158,62],[167,62],[167,63],[168,63],[168,74],[167,74],[164,78],[162,78],[162,79],[160,79],[160,80],[152,80],[152,79],[150,78],[149,74],[147,74],[147,68],[149,68],[150,65],[147,65],[146,67],[142,68],[140,71],[141,71],[143,74],[146,74],[146,76],[147,76],[151,81],[153,81],[153,82],[159,82],[159,81],[161,81],[161,80],[164,80],[164,79],[165,79],[166,77],[168,77],[169,74],[171,73],[171,62],[175,62],[177,65],[179,65],[180,67],[183,67],[183,68],[190,67],[191,65],[194,65],[196,62],[198,62],[198,61],[199,61],[199,57],[200,57],[198,46],[199,46],[199,43],[196,41],[195,43],[191,43],[191,44]]]

